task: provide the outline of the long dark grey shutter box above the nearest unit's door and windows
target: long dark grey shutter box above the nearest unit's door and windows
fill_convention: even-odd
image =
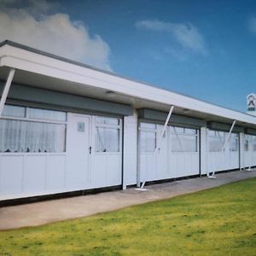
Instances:
[[[0,91],[2,90],[3,82],[0,82]],[[133,109],[129,105],[106,102],[84,96],[69,95],[58,91],[44,90],[20,84],[11,85],[8,100],[35,102],[38,107],[40,105],[49,105],[73,111],[84,110],[94,113],[100,112],[118,115],[132,115],[133,113]]]

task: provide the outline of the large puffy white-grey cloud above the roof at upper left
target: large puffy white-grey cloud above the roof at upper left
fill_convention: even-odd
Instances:
[[[0,42],[9,39],[111,70],[108,44],[99,35],[91,36],[83,22],[56,13],[57,6],[45,0],[1,0]]]

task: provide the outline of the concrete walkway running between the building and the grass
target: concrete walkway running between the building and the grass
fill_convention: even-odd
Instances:
[[[89,216],[99,212],[109,212],[148,201],[157,201],[176,195],[210,189],[249,177],[256,177],[256,169],[253,172],[219,173],[216,179],[197,177],[170,183],[154,184],[146,186],[148,191],[138,191],[132,188],[15,207],[2,207],[0,208],[0,230],[38,226],[70,218]]]

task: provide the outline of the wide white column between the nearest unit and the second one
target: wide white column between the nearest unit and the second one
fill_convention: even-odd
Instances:
[[[123,189],[137,183],[137,113],[124,118]]]

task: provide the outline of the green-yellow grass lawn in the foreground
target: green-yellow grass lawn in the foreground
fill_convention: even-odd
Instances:
[[[256,178],[0,232],[0,255],[256,255]]]

